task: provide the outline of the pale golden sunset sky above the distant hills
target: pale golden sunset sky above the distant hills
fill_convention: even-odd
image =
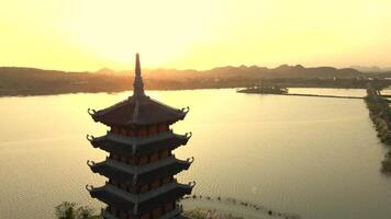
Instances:
[[[2,0],[0,66],[391,66],[391,0]]]

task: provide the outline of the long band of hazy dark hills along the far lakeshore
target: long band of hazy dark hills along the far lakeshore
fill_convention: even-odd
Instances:
[[[387,73],[378,76],[389,77]],[[243,88],[258,84],[260,79],[284,87],[362,88],[364,82],[357,80],[367,79],[368,76],[351,68],[282,65],[272,69],[258,66],[226,66],[204,71],[143,69],[143,77],[146,89],[178,90]],[[339,81],[336,82],[336,79]],[[96,72],[67,72],[0,67],[0,95],[119,92],[131,90],[132,84],[133,70],[114,71],[102,68]]]

